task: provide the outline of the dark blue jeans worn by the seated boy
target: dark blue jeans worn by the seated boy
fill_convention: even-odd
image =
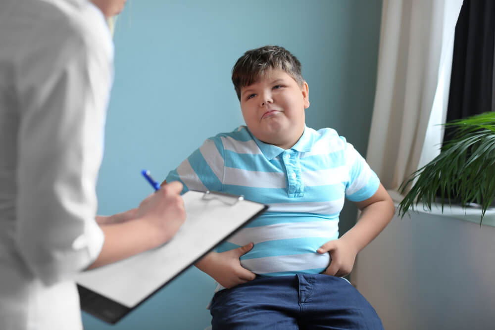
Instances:
[[[213,330],[383,329],[354,286],[323,274],[258,277],[217,292],[210,312]]]

